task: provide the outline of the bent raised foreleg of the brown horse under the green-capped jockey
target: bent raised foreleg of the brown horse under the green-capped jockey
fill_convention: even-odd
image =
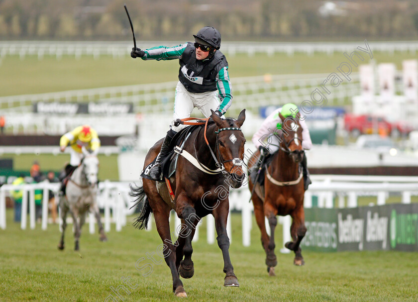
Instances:
[[[292,214],[292,225],[290,226],[290,234],[293,241],[287,242],[285,246],[295,252],[295,259],[293,264],[295,265],[304,265],[304,257],[302,257],[302,249],[300,247],[301,241],[306,234],[305,226],[305,212],[304,208],[300,207],[298,210],[294,211]]]

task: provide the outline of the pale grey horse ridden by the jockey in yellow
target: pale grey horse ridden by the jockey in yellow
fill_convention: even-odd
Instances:
[[[96,216],[99,226],[100,240],[107,241],[102,222],[100,220],[99,207],[97,205],[99,159],[93,153],[89,153],[83,147],[84,157],[81,164],[69,176],[66,185],[66,194],[60,194],[59,206],[62,218],[62,234],[58,244],[60,250],[64,249],[64,233],[67,226],[67,213],[70,211],[74,223],[74,249],[80,249],[79,239],[81,228],[86,220],[87,212]],[[80,220],[79,220],[79,219]]]

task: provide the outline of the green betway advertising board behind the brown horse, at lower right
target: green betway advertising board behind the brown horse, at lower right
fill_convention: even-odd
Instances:
[[[418,251],[418,204],[306,208],[302,248]]]

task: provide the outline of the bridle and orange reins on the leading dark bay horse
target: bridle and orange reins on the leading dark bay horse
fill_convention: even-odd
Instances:
[[[225,128],[220,128],[217,131],[215,131],[215,133],[216,133],[216,145],[215,145],[216,151],[215,152],[217,152],[217,154],[219,156],[219,159],[221,160],[221,162],[219,162],[217,160],[217,158],[216,158],[216,155],[213,153],[212,149],[210,148],[209,141],[208,141],[208,137],[206,136],[206,132],[207,132],[207,129],[208,129],[209,117],[202,119],[202,120],[204,120],[204,122],[203,121],[202,122],[190,122],[189,121],[189,120],[197,120],[197,119],[198,118],[195,118],[195,117],[188,117],[188,118],[183,118],[183,119],[177,119],[174,124],[175,125],[179,125],[179,124],[184,124],[184,125],[204,125],[205,124],[204,137],[205,137],[206,145],[208,146],[209,151],[210,151],[210,154],[212,155],[212,158],[215,161],[215,166],[218,169],[220,169],[220,172],[222,172],[223,175],[225,175],[225,176],[230,175],[230,172],[231,172],[231,171],[229,171],[229,172],[226,172],[225,171],[225,168],[223,166],[224,163],[232,162],[232,164],[233,164],[232,168],[234,166],[242,166],[242,161],[238,161],[235,158],[234,159],[228,159],[226,161],[223,160],[222,156],[220,155],[220,151],[219,151],[219,140],[218,140],[218,134],[219,134],[219,132],[224,131],[224,130],[238,130],[238,131],[241,131],[241,128],[238,128],[238,127],[225,127]],[[232,170],[232,168],[231,168],[231,170]]]

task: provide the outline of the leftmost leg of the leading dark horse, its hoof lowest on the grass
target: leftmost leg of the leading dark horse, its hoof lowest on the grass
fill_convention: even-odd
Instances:
[[[163,240],[162,253],[173,277],[173,292],[177,297],[187,297],[183,283],[180,280],[179,271],[176,268],[176,248],[171,241],[170,235],[170,209],[167,209],[167,211],[154,209],[153,213],[158,234]]]

